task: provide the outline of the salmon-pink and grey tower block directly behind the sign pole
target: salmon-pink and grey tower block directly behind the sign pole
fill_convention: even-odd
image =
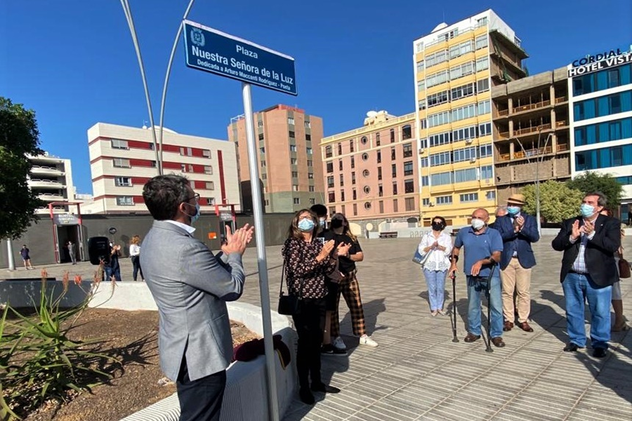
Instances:
[[[265,213],[293,213],[324,203],[322,161],[318,144],[322,119],[303,109],[275,105],[254,113],[259,184]],[[237,145],[244,210],[252,194],[244,116],[231,119],[228,138]]]

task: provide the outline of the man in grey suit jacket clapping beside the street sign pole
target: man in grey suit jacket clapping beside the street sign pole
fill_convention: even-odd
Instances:
[[[223,262],[195,238],[199,194],[180,175],[159,175],[143,187],[154,224],[141,266],[160,316],[160,366],[176,382],[180,420],[219,420],[232,337],[226,301],[239,299],[246,275],[242,254],[248,225],[230,232]]]

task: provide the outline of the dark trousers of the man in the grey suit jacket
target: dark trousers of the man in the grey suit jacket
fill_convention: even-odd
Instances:
[[[226,386],[226,370],[191,381],[183,356],[176,390],[180,400],[180,421],[219,421]]]

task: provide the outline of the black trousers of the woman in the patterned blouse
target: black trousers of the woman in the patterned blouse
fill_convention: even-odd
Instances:
[[[320,347],[325,319],[325,299],[306,298],[301,300],[300,312],[294,316],[294,327],[298,333],[298,351],[296,352],[296,370],[298,385],[309,389],[322,382],[320,379]]]

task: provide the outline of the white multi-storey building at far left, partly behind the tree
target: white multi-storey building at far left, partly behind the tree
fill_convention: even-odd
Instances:
[[[70,159],[58,158],[48,152],[28,158],[31,161],[31,171],[27,184],[46,203],[46,206],[35,212],[40,215],[50,214],[51,210],[53,214],[77,213],[77,206],[68,205],[74,201],[75,193]]]

